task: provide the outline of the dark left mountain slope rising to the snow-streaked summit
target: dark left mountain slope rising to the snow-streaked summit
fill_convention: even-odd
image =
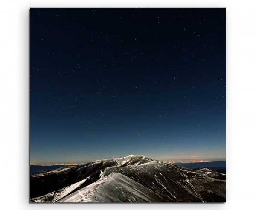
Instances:
[[[139,165],[153,161],[145,156],[130,155],[124,158],[97,160],[77,167],[62,167],[30,176],[30,198],[46,195],[55,190],[75,184],[87,177],[82,187],[100,179],[102,170],[111,166]]]

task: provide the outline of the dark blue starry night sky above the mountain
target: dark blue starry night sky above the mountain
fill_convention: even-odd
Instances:
[[[30,9],[30,163],[225,160],[225,16]]]

